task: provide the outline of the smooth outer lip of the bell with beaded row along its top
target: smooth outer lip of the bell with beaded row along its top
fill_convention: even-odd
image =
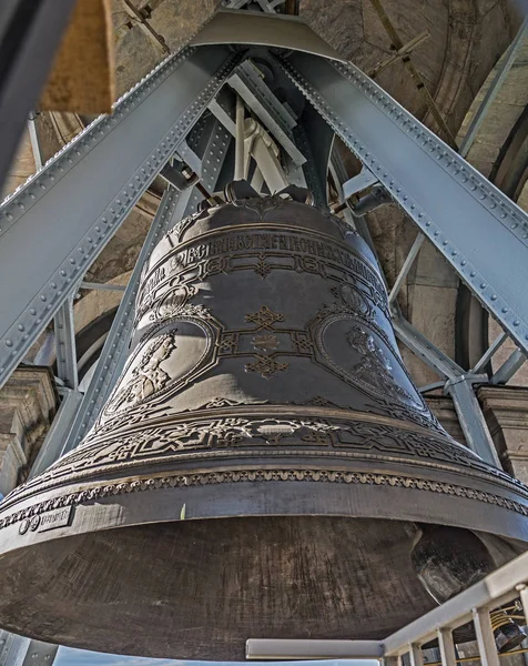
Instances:
[[[258,475],[260,473],[264,476],[267,473],[268,477],[255,480],[248,477],[251,474]],[[209,477],[204,482],[204,477],[207,475]],[[215,475],[226,478],[217,481],[214,478]],[[243,478],[244,475],[247,477]],[[284,475],[286,477],[281,478]],[[319,478],[325,475],[326,478]],[[362,476],[363,480],[358,478]],[[187,483],[190,477],[193,483]],[[169,480],[170,475],[155,478],[162,482]],[[173,475],[172,478],[180,480],[182,483],[154,487],[155,482],[152,476],[143,478],[142,482],[138,481],[138,477],[133,481],[129,478],[128,485],[123,478],[116,478],[113,480],[113,483],[109,480],[100,482],[93,488],[95,494],[92,496],[90,496],[90,491],[78,487],[74,492],[72,486],[62,488],[62,491],[69,490],[69,492],[62,492],[61,495],[54,497],[50,497],[51,493],[48,493],[48,498],[41,502],[40,507],[33,505],[33,507],[20,511],[20,515],[11,514],[11,516],[16,516],[16,519],[9,521],[8,524],[0,519],[0,535],[4,529],[7,531],[3,532],[6,538],[0,538],[0,557],[38,543],[91,532],[93,529],[90,529],[90,525],[93,527],[95,524],[98,525],[95,532],[101,532],[155,523],[231,519],[250,516],[379,518],[447,524],[528,544],[528,502],[521,505],[514,500],[486,493],[478,487],[463,487],[448,482],[413,478],[407,475],[406,480],[399,476],[399,478],[404,478],[404,483],[397,483],[398,475],[390,473],[309,470],[306,467],[293,470],[276,468],[276,466],[264,471],[248,467],[235,471],[211,468],[201,474],[189,471],[186,474]],[[390,478],[394,478],[394,483],[390,483]],[[405,485],[405,482],[408,482],[408,485]],[[141,487],[141,483],[143,483],[143,487]],[[132,484],[136,485],[132,487]],[[303,508],[292,509],[287,502],[298,494],[299,484],[302,484],[302,488],[309,487],[312,491],[316,484],[318,492],[308,492],[307,498],[301,500],[301,503],[304,502]],[[121,486],[121,490],[118,490],[118,486]],[[101,487],[102,493],[98,493],[97,491]],[[455,487],[459,492],[450,492]],[[215,502],[213,509],[211,508],[211,498],[207,500],[209,488],[213,488],[211,491]],[[248,492],[246,492],[247,488]],[[380,490],[385,492],[380,494]],[[149,515],[142,511],[143,493],[146,491],[161,491],[149,496]],[[387,498],[387,492],[396,496],[394,504]],[[404,495],[405,492],[407,495]],[[166,496],[171,493],[173,498],[167,503]],[[181,502],[175,503],[174,495],[181,496]],[[291,495],[290,498],[288,495]],[[407,501],[402,502],[403,497],[407,497]],[[337,504],[328,502],[328,498],[336,501]],[[342,501],[344,504],[339,504]],[[186,509],[182,508],[187,506],[187,502],[189,506],[193,507],[194,515],[186,515]],[[276,502],[282,503],[281,509],[273,508],[273,504]],[[346,504],[347,502],[348,504]],[[119,516],[120,523],[115,521],[112,523],[104,514],[104,508],[112,504],[119,504],[123,508],[123,515]],[[522,513],[515,508],[515,504],[521,508]],[[167,506],[172,508],[169,514],[165,514],[165,517],[162,517],[162,512],[167,511]],[[222,509],[222,506],[229,506],[230,509]],[[396,506],[397,511],[388,511],[386,506]],[[483,512],[483,506],[486,506],[487,511]],[[43,532],[37,531],[41,516],[61,509],[69,509],[68,525],[59,525],[59,528],[49,528]],[[184,512],[183,516],[182,511]],[[490,512],[494,514],[493,517]],[[141,517],[142,513],[143,517]],[[80,519],[74,526],[73,523],[79,514]],[[456,519],[454,521],[454,518]],[[35,531],[29,529],[31,519],[38,521]],[[104,524],[104,519],[106,519],[106,524]],[[22,539],[23,542],[20,543]]]

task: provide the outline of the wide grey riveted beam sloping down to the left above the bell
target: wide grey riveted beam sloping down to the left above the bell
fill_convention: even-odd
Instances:
[[[225,47],[169,58],[6,200],[0,385],[238,61]]]

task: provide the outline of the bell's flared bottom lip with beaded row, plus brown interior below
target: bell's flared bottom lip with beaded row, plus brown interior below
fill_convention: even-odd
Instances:
[[[416,522],[505,537],[497,564],[526,548],[522,497],[500,478],[258,455],[42,477],[8,497],[0,626],[98,652],[242,660],[247,638],[377,639],[433,608],[412,563]]]

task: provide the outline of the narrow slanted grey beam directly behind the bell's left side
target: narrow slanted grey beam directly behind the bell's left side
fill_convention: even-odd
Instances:
[[[185,194],[184,199],[186,200],[190,191],[185,191]],[[177,203],[181,196],[181,193],[173,188],[167,189],[163,195],[141,249],[138,262],[130,276],[110,333],[104,342],[95,373],[78,410],[68,441],[63,443],[62,453],[67,453],[77,446],[91,428],[108,394],[113,389],[121,373],[125,360],[125,351],[132,333],[134,303],[143,266],[159,240],[170,229],[171,224],[175,222],[174,215],[175,213],[177,214]],[[180,209],[180,212],[182,213],[183,211]],[[53,443],[54,446],[55,444]]]

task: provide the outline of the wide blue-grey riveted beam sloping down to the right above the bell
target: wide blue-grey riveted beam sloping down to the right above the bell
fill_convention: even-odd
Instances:
[[[282,62],[348,148],[528,351],[528,215],[354,65],[296,52]],[[507,261],[500,261],[497,248]]]

